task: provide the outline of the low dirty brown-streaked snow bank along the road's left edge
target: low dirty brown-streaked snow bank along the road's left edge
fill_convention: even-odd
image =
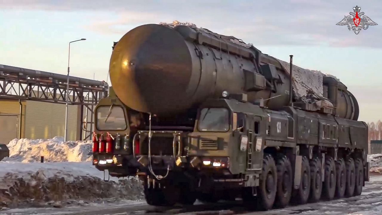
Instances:
[[[92,162],[0,161],[0,206],[3,207],[68,200],[140,200],[142,189],[136,178],[110,177],[105,182],[103,172],[92,166]]]

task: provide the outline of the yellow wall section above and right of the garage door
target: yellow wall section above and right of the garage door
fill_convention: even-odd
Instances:
[[[21,101],[23,110],[21,112],[21,138],[24,137],[24,128],[25,128],[25,106],[26,102]],[[17,137],[20,135],[20,103],[15,99],[0,99],[0,114],[4,115],[17,115]]]

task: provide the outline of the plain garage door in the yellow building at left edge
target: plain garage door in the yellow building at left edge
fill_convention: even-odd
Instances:
[[[8,144],[17,138],[17,116],[0,115],[0,143]]]

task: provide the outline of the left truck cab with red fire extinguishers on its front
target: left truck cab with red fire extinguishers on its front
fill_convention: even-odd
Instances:
[[[116,177],[135,175],[133,138],[130,138],[139,124],[135,114],[136,111],[118,99],[112,87],[109,96],[102,98],[95,107],[93,165],[100,171],[108,170],[111,176]]]

